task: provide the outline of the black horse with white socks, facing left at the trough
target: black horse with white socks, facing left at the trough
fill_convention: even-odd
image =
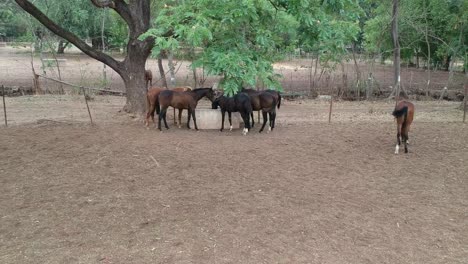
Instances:
[[[244,129],[242,130],[242,134],[245,136],[249,132],[250,129],[250,115],[252,114],[252,102],[250,101],[249,95],[246,93],[238,93],[234,95],[234,97],[226,97],[224,95],[219,96],[216,98],[212,105],[212,109],[217,109],[218,106],[221,108],[221,129],[224,129],[224,116],[226,112],[228,112],[229,117],[229,131],[232,131],[232,120],[231,120],[231,113],[232,112],[239,112],[242,120],[244,120]]]

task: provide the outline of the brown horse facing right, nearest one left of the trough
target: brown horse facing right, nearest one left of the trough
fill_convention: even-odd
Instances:
[[[164,126],[169,129],[166,122],[166,112],[169,106],[188,110],[187,127],[190,129],[190,116],[193,118],[195,129],[198,130],[197,120],[195,118],[195,108],[197,107],[198,101],[207,97],[210,101],[213,101],[213,88],[198,88],[187,92],[174,92],[172,90],[164,90],[159,94],[159,105],[161,110],[159,113],[158,129],[161,130],[161,120],[164,120]]]

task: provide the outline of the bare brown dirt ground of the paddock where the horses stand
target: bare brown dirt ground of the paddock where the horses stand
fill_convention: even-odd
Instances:
[[[328,124],[286,101],[242,136],[147,130],[121,97],[90,103],[94,127],[79,96],[7,98],[0,263],[467,263],[460,103],[416,102],[400,155],[393,104]]]

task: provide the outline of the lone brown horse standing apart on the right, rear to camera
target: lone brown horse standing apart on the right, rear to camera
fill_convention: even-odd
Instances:
[[[405,153],[408,153],[408,132],[414,117],[414,105],[408,101],[400,101],[393,111],[392,115],[397,120],[397,144],[395,154],[398,154],[401,140],[405,145]],[[401,138],[401,139],[400,139]]]

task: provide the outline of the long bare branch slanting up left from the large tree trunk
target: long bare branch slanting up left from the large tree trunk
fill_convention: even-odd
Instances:
[[[88,56],[101,61],[102,63],[108,65],[112,69],[114,69],[116,72],[120,73],[122,72],[121,70],[121,62],[116,61],[114,58],[111,56],[100,52],[88,44],[81,40],[78,36],[75,34],[71,33],[70,31],[65,30],[64,28],[60,27],[57,25],[55,22],[50,20],[44,13],[42,13],[35,5],[30,3],[29,1],[26,0],[15,0],[15,2],[26,12],[28,12],[30,15],[35,17],[41,24],[43,24],[45,27],[47,27],[50,31],[54,32],[58,36],[66,39],[67,41],[71,42],[73,45],[75,45],[78,49],[83,51],[85,54]]]

